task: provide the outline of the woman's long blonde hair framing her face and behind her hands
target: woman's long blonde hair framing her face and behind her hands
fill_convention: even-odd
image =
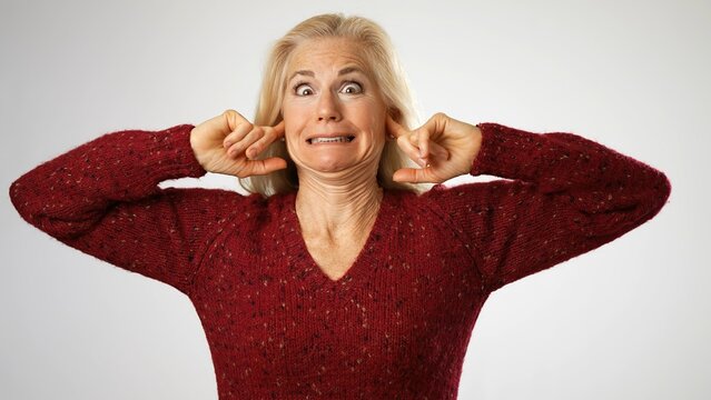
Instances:
[[[362,56],[369,67],[373,78],[395,121],[409,129],[416,123],[416,112],[409,88],[389,37],[377,23],[363,17],[344,17],[328,13],[312,17],[277,40],[267,60],[257,112],[256,126],[275,126],[283,119],[282,101],[286,91],[288,61],[294,49],[309,39],[346,38],[362,44]],[[280,157],[287,168],[266,176],[239,179],[243,188],[251,193],[268,197],[298,189],[296,166],[288,156],[286,143],[275,141],[259,158]],[[416,167],[397,147],[394,140],[385,143],[378,166],[377,181],[385,189],[401,189],[419,192],[422,186],[393,181],[393,173],[403,167]]]

